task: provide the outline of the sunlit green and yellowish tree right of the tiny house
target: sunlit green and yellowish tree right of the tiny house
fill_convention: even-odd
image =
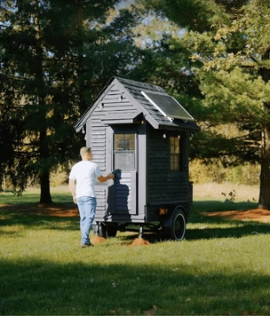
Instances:
[[[204,130],[214,126],[218,133],[218,125],[236,124],[241,132],[238,138],[226,142],[221,141],[220,134],[201,139],[197,154],[223,156],[234,162],[258,160],[258,207],[270,209],[268,1],[150,0],[144,4],[185,28],[182,36],[171,38],[167,44],[185,48],[194,61],[191,71],[203,98],[195,102],[200,107],[194,107],[192,113]],[[205,152],[203,145],[207,145]]]

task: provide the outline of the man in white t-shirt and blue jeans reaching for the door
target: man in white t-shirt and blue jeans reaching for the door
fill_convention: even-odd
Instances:
[[[73,201],[78,205],[80,213],[80,229],[82,234],[81,248],[91,246],[89,234],[96,214],[95,181],[105,182],[115,178],[113,173],[106,177],[101,175],[97,163],[91,162],[90,147],[82,147],[80,150],[81,162],[75,163],[69,174],[68,188],[73,196]]]

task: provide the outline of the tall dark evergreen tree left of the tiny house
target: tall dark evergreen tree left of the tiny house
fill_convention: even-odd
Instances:
[[[142,58],[133,45],[136,12],[112,14],[118,0],[6,0],[0,3],[0,179],[20,194],[78,156],[73,126],[112,75]],[[110,14],[112,18],[110,18]]]

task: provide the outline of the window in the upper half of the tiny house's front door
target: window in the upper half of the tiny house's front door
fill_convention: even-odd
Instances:
[[[135,134],[114,135],[114,168],[135,170]]]

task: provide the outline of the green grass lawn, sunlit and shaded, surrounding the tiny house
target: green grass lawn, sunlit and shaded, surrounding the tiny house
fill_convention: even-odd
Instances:
[[[38,194],[16,199],[20,209]],[[201,214],[249,203],[194,204],[184,241],[146,234],[150,245],[131,246],[126,232],[90,249],[78,247],[78,217],[0,208],[0,314],[269,315],[269,225]]]

